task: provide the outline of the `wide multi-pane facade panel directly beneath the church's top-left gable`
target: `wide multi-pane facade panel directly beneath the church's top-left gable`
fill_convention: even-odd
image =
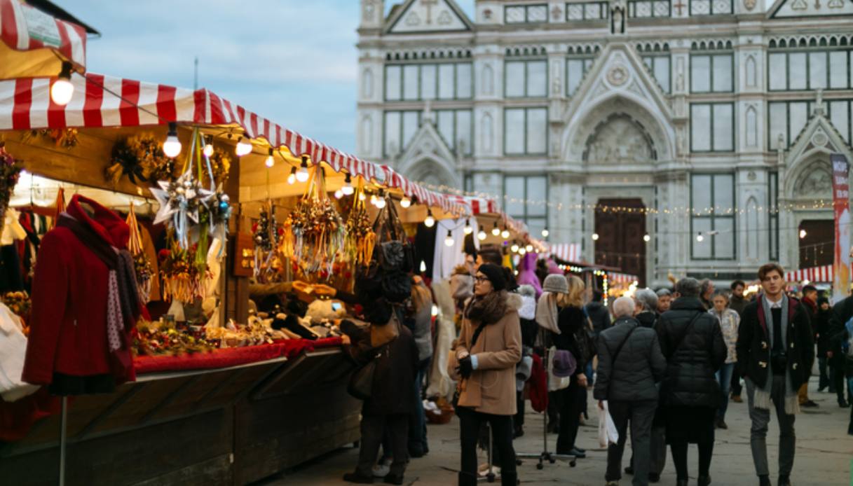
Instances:
[[[470,62],[389,64],[385,67],[385,100],[470,100],[471,70]]]

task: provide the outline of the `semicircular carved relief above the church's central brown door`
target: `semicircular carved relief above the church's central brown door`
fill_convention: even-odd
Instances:
[[[657,159],[657,153],[642,125],[618,113],[595,127],[583,159],[589,164],[632,164]]]

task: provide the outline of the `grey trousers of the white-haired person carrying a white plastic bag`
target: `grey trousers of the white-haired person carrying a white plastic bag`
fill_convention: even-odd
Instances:
[[[654,419],[654,412],[658,408],[658,401],[607,402],[607,408],[619,433],[619,442],[607,447],[605,480],[618,481],[622,478],[622,454],[625,449],[628,421],[630,420],[631,448],[634,452],[633,484],[634,486],[647,486],[651,457],[652,420]]]

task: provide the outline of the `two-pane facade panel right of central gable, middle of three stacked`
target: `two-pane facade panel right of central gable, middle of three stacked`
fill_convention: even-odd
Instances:
[[[690,149],[693,152],[734,150],[734,104],[690,105]]]

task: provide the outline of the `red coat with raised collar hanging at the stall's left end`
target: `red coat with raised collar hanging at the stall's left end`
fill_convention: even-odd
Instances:
[[[81,207],[81,200],[90,206],[92,216]],[[80,196],[73,197],[66,211],[110,245],[119,250],[127,247],[130,228],[113,211]],[[71,229],[56,227],[44,235],[32,282],[24,381],[49,385],[54,373],[111,374],[116,384],[136,379],[129,333],[119,331],[121,348],[110,353],[108,296],[107,265]]]

